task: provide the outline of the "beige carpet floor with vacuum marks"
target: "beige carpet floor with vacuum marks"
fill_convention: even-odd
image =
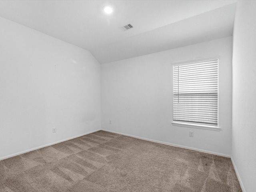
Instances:
[[[0,192],[242,192],[230,158],[98,131],[0,161]]]

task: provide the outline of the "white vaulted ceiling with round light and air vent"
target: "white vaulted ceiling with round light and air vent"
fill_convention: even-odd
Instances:
[[[232,36],[236,2],[1,0],[0,16],[84,48],[102,64]],[[134,27],[120,29],[127,24]]]

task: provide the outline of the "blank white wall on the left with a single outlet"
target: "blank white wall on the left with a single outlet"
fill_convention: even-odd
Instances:
[[[0,18],[0,159],[100,126],[90,52]]]

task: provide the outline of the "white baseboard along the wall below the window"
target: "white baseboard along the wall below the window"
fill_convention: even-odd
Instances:
[[[202,150],[202,149],[198,149],[198,148],[193,148],[193,147],[188,147],[188,146],[183,146],[183,145],[177,145],[177,144],[168,143],[168,142],[162,142],[162,141],[158,141],[158,140],[154,140],[154,139],[138,137],[138,136],[134,136],[134,135],[130,135],[130,134],[123,134],[123,133],[120,133],[120,132],[115,132],[115,131],[110,131],[110,130],[105,130],[105,129],[102,129],[102,131],[112,132],[112,133],[116,133],[116,134],[120,134],[120,135],[125,135],[125,136],[130,136],[130,137],[134,137],[134,138],[138,138],[138,139],[152,141],[152,142],[156,142],[156,143],[160,143],[160,144],[166,144],[166,145],[170,145],[170,146],[174,146],[174,147],[180,147],[180,148],[185,148],[185,149],[190,149],[190,150],[194,150],[194,151],[199,151],[199,152],[204,152],[204,153],[208,153],[208,154],[219,155],[219,156],[230,158],[230,155],[217,153],[217,152],[212,152],[212,151],[208,151],[208,150]]]

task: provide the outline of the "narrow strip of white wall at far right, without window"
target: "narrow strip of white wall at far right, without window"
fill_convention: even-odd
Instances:
[[[234,25],[232,160],[244,192],[256,190],[256,1],[238,1]]]

